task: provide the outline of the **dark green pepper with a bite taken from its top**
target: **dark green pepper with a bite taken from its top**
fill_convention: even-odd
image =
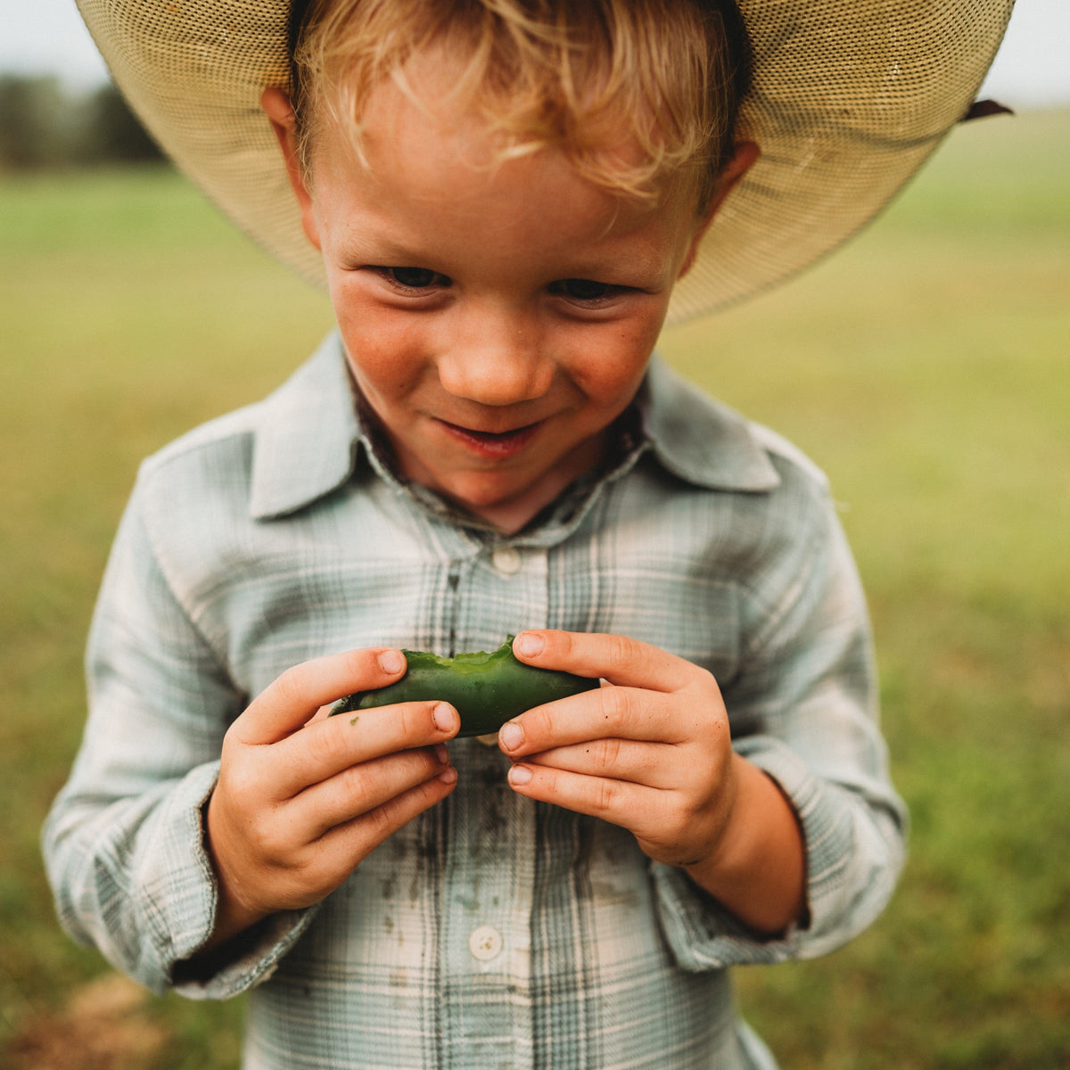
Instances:
[[[496,732],[507,720],[544,702],[564,699],[598,686],[597,679],[518,661],[513,636],[489,654],[441,658],[425,651],[402,651],[409,670],[399,681],[372,691],[357,691],[337,702],[331,715],[348,714],[395,702],[440,699],[461,715],[457,736]]]

